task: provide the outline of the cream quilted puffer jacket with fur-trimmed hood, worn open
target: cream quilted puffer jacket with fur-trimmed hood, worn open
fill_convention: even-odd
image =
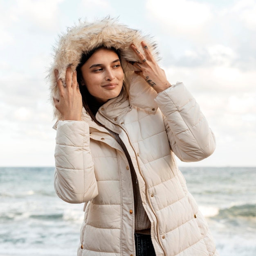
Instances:
[[[60,61],[59,56],[65,60],[58,54],[67,54],[63,49],[69,47],[68,39],[73,39],[74,47],[74,40],[80,42],[82,37],[77,36],[78,31],[88,29],[98,37],[108,29],[107,35],[112,31],[113,37],[117,33],[113,28],[119,26],[115,22],[111,19],[100,21],[100,31],[87,23],[80,25],[80,30],[78,27],[70,29],[64,36],[65,46],[59,45],[50,76],[56,67],[65,70],[70,64],[77,65],[70,59],[66,59],[67,63]],[[127,27],[121,27],[126,31]],[[109,38],[113,40],[111,36]],[[141,39],[147,37],[140,36],[135,42],[128,37],[124,41],[128,45]],[[102,43],[106,37],[102,36],[100,40]],[[151,50],[154,49],[151,45]],[[129,54],[132,56],[132,52]],[[128,150],[142,204],[151,222],[156,255],[216,256],[218,253],[207,223],[175,162],[175,155],[185,162],[199,161],[211,155],[215,149],[214,135],[195,99],[182,83],[157,94],[125,65],[126,59],[129,60],[124,57],[123,67],[129,99],[119,103],[115,103],[115,99],[109,100],[101,106],[96,118],[116,132]],[[53,77],[51,86],[52,97],[57,98]],[[56,110],[55,115],[59,119],[55,125],[56,193],[67,202],[85,203],[78,255],[135,256],[132,179],[124,150],[106,128],[92,121],[84,109],[83,121],[61,121]]]

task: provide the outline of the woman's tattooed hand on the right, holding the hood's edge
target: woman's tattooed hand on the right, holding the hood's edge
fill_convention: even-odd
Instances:
[[[131,48],[137,54],[140,60],[140,62],[129,62],[139,70],[135,71],[135,73],[145,79],[146,82],[153,87],[157,93],[171,87],[171,84],[167,81],[164,70],[162,70],[162,68],[160,68],[156,63],[144,41],[141,42],[141,46],[144,49],[144,54],[139,52],[139,49],[134,44],[131,45]]]

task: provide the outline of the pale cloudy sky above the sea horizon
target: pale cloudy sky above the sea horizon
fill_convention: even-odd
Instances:
[[[54,166],[45,79],[58,34],[110,15],[153,36],[217,139],[180,166],[256,166],[256,0],[0,0],[0,166]]]

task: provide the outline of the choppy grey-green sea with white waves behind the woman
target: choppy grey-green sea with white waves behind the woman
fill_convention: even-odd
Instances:
[[[256,256],[256,167],[180,167],[220,256]],[[57,197],[54,167],[0,168],[0,256],[76,256],[83,204]]]

